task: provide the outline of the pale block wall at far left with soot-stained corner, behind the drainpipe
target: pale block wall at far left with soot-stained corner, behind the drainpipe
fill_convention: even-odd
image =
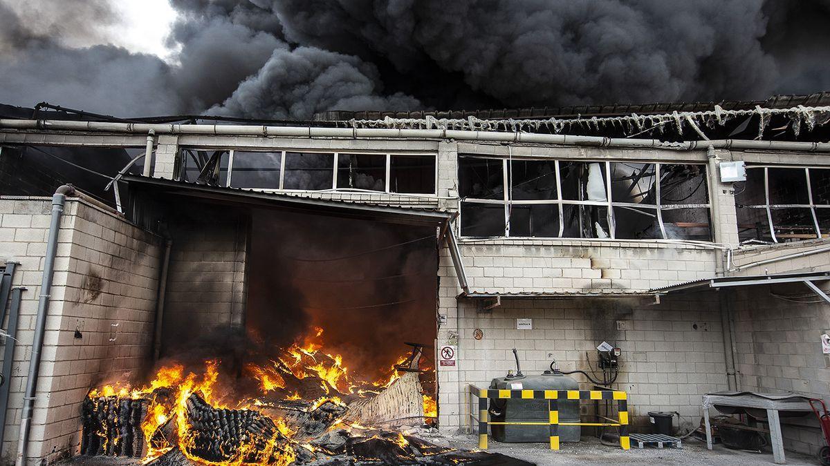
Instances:
[[[13,284],[23,294],[3,462],[17,452],[25,377],[51,200],[0,200],[2,260],[21,263]],[[120,216],[67,199],[42,352],[28,456],[54,461],[80,441],[81,402],[105,381],[138,378],[148,360],[155,318],[160,241]],[[81,337],[76,337],[76,331]]]

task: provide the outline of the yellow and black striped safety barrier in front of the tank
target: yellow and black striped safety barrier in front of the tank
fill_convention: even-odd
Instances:
[[[478,396],[478,448],[487,448],[488,425],[549,425],[550,449],[559,449],[560,425],[592,425],[619,427],[620,447],[631,448],[628,438],[628,395],[616,390],[485,390],[470,386],[470,393]],[[548,400],[548,422],[495,422],[489,420],[488,408],[491,398],[515,400]],[[616,400],[617,422],[559,422],[559,400]],[[471,415],[473,419],[474,416]]]

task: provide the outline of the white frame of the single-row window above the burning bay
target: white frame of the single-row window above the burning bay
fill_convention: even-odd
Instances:
[[[393,152],[378,152],[378,151],[366,151],[366,150],[338,150],[338,151],[330,151],[324,149],[306,149],[306,148],[198,148],[198,147],[183,147],[179,148],[179,153],[182,153],[183,150],[191,150],[191,151],[216,151],[216,150],[224,150],[228,151],[228,160],[227,160],[227,180],[224,187],[233,187],[236,189],[248,189],[248,190],[256,190],[260,192],[360,192],[364,194],[390,194],[390,195],[398,195],[398,196],[413,196],[413,197],[437,197],[438,193],[438,154],[433,152],[407,152],[407,151],[393,151]],[[279,153],[280,154],[280,183],[279,187],[274,188],[265,188],[265,187],[239,187],[239,186],[232,186],[232,177],[233,177],[233,161],[235,154],[237,152],[240,153],[252,153],[252,152],[261,152],[261,153]],[[331,154],[334,157],[334,161],[332,163],[332,170],[334,174],[332,176],[332,183],[330,188],[326,189],[317,189],[317,190],[308,190],[308,189],[286,189],[285,188],[285,177],[286,177],[286,153],[323,153],[323,154]],[[359,188],[349,188],[349,187],[337,187],[337,173],[338,173],[338,162],[340,154],[366,154],[366,155],[383,155],[385,158],[385,165],[386,170],[384,172],[384,189],[383,191],[374,191],[368,189],[359,189]],[[391,174],[392,174],[392,158],[395,156],[420,156],[420,157],[431,157],[432,160],[435,161],[434,167],[432,169],[433,172],[433,184],[432,184],[432,192],[393,192],[391,190]]]

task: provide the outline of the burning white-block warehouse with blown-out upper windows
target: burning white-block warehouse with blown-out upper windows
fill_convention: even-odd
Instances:
[[[547,444],[501,392],[567,393],[557,448],[828,396],[826,99],[0,119],[5,458],[484,464],[423,434]],[[811,422],[769,429],[808,451]]]

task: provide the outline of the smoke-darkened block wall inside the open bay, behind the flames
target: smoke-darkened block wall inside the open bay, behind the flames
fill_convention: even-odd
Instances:
[[[170,226],[162,357],[244,325],[250,223],[242,215],[204,218]]]

